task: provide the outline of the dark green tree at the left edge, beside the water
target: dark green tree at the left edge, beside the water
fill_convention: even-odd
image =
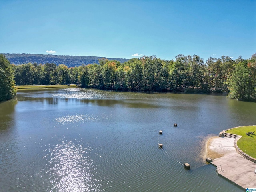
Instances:
[[[3,54],[0,54],[0,101],[14,98],[14,68]]]

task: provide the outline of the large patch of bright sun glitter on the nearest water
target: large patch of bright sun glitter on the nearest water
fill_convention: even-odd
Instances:
[[[40,170],[49,175],[47,191],[84,192],[101,191],[100,181],[94,178],[96,165],[88,156],[90,148],[62,141],[46,151],[43,157],[49,162],[46,169]]]

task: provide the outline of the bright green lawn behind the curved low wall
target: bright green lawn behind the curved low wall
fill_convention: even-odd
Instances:
[[[253,135],[248,136],[245,134],[251,131],[255,131]],[[249,156],[256,158],[256,126],[238,127],[226,132],[241,135],[242,137],[237,141],[237,146]]]

